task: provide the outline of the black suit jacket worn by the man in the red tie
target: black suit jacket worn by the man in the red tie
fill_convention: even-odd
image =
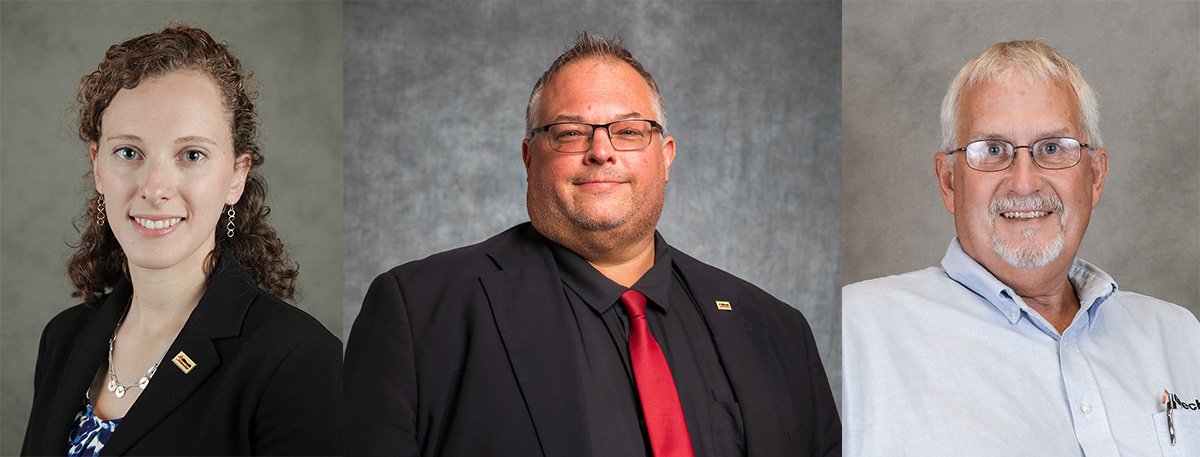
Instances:
[[[726,367],[748,455],[840,456],[804,317],[678,251],[673,259]],[[347,455],[590,456],[572,319],[528,223],[379,275],[346,348]]]

